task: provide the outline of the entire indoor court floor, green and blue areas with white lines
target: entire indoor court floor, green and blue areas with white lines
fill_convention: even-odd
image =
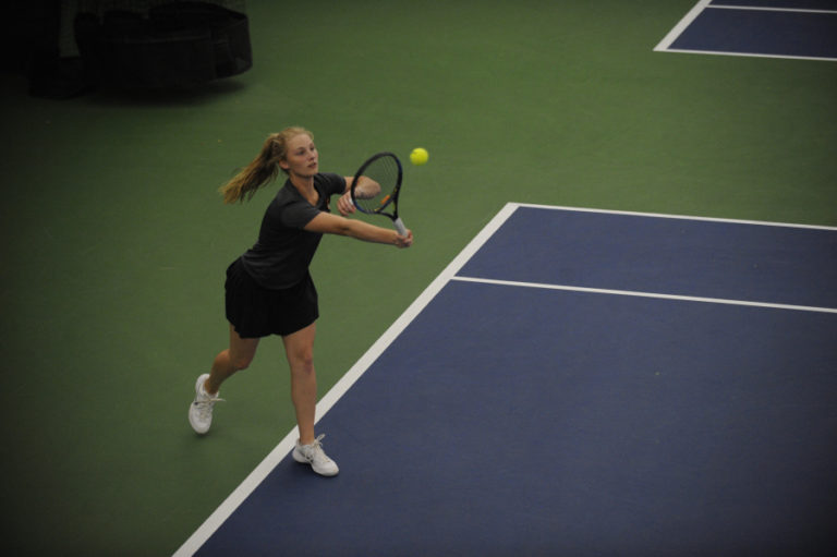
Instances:
[[[243,3],[205,87],[0,73],[10,554],[833,553],[834,1]],[[277,186],[217,189],[288,125],[429,153],[411,249],[312,265],[333,479],[278,339],[186,419]]]

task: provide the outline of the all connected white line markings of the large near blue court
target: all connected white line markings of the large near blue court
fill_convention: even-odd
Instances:
[[[460,281],[480,281],[489,282],[485,279],[470,279],[466,277],[457,277],[457,273],[480,251],[480,249],[487,242],[492,235],[511,217],[511,215],[519,207],[531,207],[539,209],[551,210],[569,210],[578,213],[601,213],[610,215],[631,215],[640,217],[654,217],[654,218],[675,218],[686,220],[704,220],[715,222],[733,222],[745,225],[763,225],[763,226],[779,226],[779,227],[794,227],[794,228],[812,228],[823,230],[837,230],[833,227],[818,227],[809,225],[789,225],[780,222],[763,222],[754,220],[732,220],[732,219],[718,219],[707,217],[688,217],[680,215],[663,215],[653,213],[632,213],[632,211],[619,211],[619,210],[605,210],[605,209],[591,209],[591,208],[578,208],[578,207],[561,207],[553,205],[534,205],[534,204],[520,204],[508,203],[497,215],[492,218],[488,223],[474,237],[474,239],[457,255],[457,257],[439,274],[436,279],[422,292],[418,298],[404,311],[403,314],[381,335],[381,337],[366,351],[363,356],[343,375],[343,377],[335,384],[335,386],[323,397],[317,403],[316,421],[319,421],[335,403],[354,385],[354,383],[361,378],[361,376],[368,370],[368,367],[380,356],[381,353],[398,338],[398,336],[407,328],[407,326],[430,303],[436,294],[451,280]],[[687,300],[686,296],[666,296],[665,294],[645,294],[642,292],[626,292],[617,290],[596,290],[596,289],[582,289],[578,287],[559,287],[559,286],[544,286],[524,282],[506,282],[506,281],[492,281],[496,283],[508,283],[511,286],[534,286],[537,288],[553,288],[553,289],[566,289],[589,291],[598,293],[610,293],[621,295],[645,295],[655,298],[675,298],[680,300]],[[692,301],[712,301],[715,303],[725,303],[714,299],[699,299],[692,298]],[[731,301],[728,301],[729,303]],[[750,304],[750,303],[744,303]],[[761,304],[765,305],[765,304]],[[769,306],[769,305],[767,305]],[[773,306],[779,306],[773,304]],[[804,308],[803,306],[786,306],[791,308]],[[814,311],[814,310],[810,310]],[[822,308],[821,311],[837,313],[837,310]],[[189,557],[194,555],[201,546],[223,524],[223,522],[235,511],[235,509],[258,487],[258,485],[268,476],[268,474],[284,459],[288,453],[293,450],[293,445],[299,437],[296,427],[286,435],[286,437],[265,457],[265,459],[247,475],[247,477],[227,497],[227,499],[213,512],[209,518],[204,521],[201,526],[186,540],[183,545],[173,554],[174,557]]]

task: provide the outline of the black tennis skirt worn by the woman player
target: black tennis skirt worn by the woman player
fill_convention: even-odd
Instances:
[[[290,335],[319,317],[317,289],[308,273],[291,288],[271,290],[256,282],[241,259],[235,259],[227,268],[225,290],[227,320],[241,338]]]

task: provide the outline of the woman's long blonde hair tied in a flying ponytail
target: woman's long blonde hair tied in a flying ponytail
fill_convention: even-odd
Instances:
[[[256,158],[218,190],[223,195],[223,203],[250,201],[259,187],[276,180],[279,170],[288,173],[279,162],[286,160],[288,142],[302,134],[314,138],[314,134],[300,126],[286,128],[268,135]]]

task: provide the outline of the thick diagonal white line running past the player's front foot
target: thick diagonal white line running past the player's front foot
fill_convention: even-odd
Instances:
[[[500,226],[517,209],[517,205],[507,204],[483,230],[465,246],[464,250],[439,274],[436,279],[422,292],[418,298],[404,311],[401,316],[381,335],[363,356],[338,380],[333,387],[317,403],[316,421],[318,422],[331,407],[342,397],[354,383],[368,370],[407,326],[430,303],[450,279],[465,263],[483,246]],[[250,475],[230,494],[229,497],[213,512],[206,521],[192,534],[189,540],[173,554],[174,557],[194,555],[201,546],[223,524],[236,508],[252,494],[268,474],[293,450],[299,438],[299,429],[294,427],[279,445],[250,473]]]

